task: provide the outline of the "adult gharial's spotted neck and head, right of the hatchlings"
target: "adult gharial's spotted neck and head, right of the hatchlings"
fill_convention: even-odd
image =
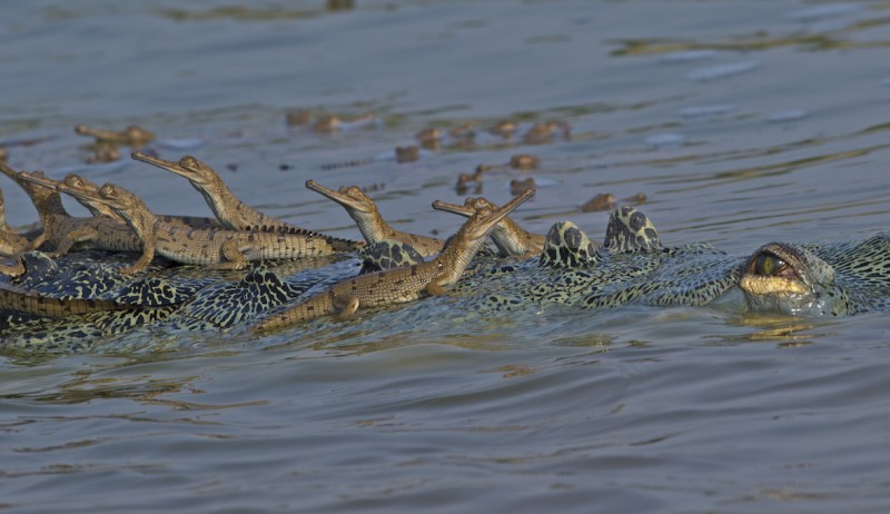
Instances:
[[[665,247],[642,212],[623,207],[613,212],[602,247],[573,224],[556,224],[540,259],[479,270],[456,294],[471,296],[483,312],[720,300],[735,309],[853,315],[890,307],[890,239],[879,234],[822,246],[770,243],[751,255],[728,255],[708,244]]]

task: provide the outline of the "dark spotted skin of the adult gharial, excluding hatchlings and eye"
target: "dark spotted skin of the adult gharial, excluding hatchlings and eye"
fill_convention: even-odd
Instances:
[[[811,304],[819,315],[854,315],[890,309],[890,238],[886,234],[832,245],[779,245],[801,256],[804,275],[819,278]],[[596,247],[575,225],[552,227],[540,258],[479,258],[451,295],[467,309],[514,312],[530,305],[562,304],[603,309],[622,305],[706,305],[735,288],[750,256],[726,255],[708,244],[665,247],[645,215],[633,208],[613,212],[605,243]],[[409,246],[387,241],[363,251],[365,266],[393,267],[421,261]],[[281,305],[293,304],[354,275],[356,261],[281,276],[258,265],[237,279],[198,277],[184,267],[152,269],[136,279],[121,278],[108,265],[26,254],[28,273],[18,279],[46,295],[112,299],[141,308],[89,313],[61,319],[0,312],[4,348],[47,352],[89,350],[102,337],[140,326],[186,330],[238,330]],[[821,277],[821,278],[820,278]],[[67,296],[66,296],[67,295]],[[783,307],[781,296],[748,298],[742,308]],[[458,304],[454,304],[458,305]],[[423,310],[422,305],[416,306]],[[366,323],[373,324],[373,318]],[[11,327],[11,328],[3,328]]]

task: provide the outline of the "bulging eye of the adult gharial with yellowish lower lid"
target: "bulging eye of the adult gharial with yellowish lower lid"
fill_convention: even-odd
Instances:
[[[848,314],[849,299],[834,278],[834,268],[812,251],[770,243],[742,266],[739,287],[754,310],[804,316]]]

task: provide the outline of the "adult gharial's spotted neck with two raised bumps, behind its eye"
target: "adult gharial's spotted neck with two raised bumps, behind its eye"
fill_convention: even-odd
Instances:
[[[704,305],[738,283],[742,263],[705,244],[664,248],[649,218],[624,207],[610,218],[603,247],[575,225],[556,224],[540,260],[498,264],[462,280],[458,290],[476,295],[482,310],[528,303]]]

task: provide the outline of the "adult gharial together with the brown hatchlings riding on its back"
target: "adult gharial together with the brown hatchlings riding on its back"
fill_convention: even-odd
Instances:
[[[138,197],[115,185],[97,187],[76,176],[53,181],[0,165],[0,170],[27,191],[41,194],[34,192],[32,199],[43,224],[43,234],[34,240],[13,240],[20,236],[3,230],[8,244],[0,248],[0,257],[18,261],[0,261],[0,271],[16,277],[0,281],[0,347],[41,347],[52,340],[57,348],[77,349],[88,346],[85,340],[137,326],[281,330],[333,318],[329,315],[343,317],[358,305],[384,308],[407,300],[414,302],[407,310],[423,319],[436,315],[424,307],[424,297],[432,291],[455,298],[448,304],[453,308],[506,318],[544,304],[607,309],[720,303],[736,309],[802,316],[854,315],[890,306],[890,239],[886,234],[831,245],[770,243],[753,254],[733,256],[708,244],[664,246],[650,219],[625,206],[610,217],[600,245],[568,221],[554,225],[543,237],[510,220],[506,215],[533,194],[528,190],[506,209],[484,198],[469,198],[464,206],[434,202],[441,210],[471,218],[458,231],[464,237],[448,245],[390,227],[357,188],[336,191],[308,181],[310,189],[344,205],[353,215],[367,239],[358,244],[279,226],[276,219],[245,206],[197,159],[186,156],[166,161],[139,152],[135,157],[189,178],[218,220],[155,217]],[[68,216],[58,191],[92,206],[95,217]],[[44,196],[51,201],[42,201]],[[226,230],[217,223],[240,228]],[[479,223],[485,227],[482,231],[467,228]],[[80,228],[66,228],[72,224]],[[96,224],[101,227],[96,229]],[[71,237],[83,233],[86,239],[88,231],[90,241]],[[474,236],[466,239],[466,234]],[[471,263],[487,235],[500,256],[481,253]],[[79,259],[85,250],[78,249],[49,265],[52,261],[40,254],[28,254],[43,239],[52,243],[51,255],[57,257],[76,248],[75,243],[119,254],[97,261],[95,256]],[[290,251],[287,245],[291,239],[294,248],[315,245],[312,248],[317,251]],[[417,248],[412,248],[415,245]],[[246,253],[236,259],[243,247]],[[170,260],[200,266],[158,266],[155,249],[164,250],[158,253]],[[126,255],[122,251],[141,253],[141,257],[125,266],[128,257],[119,257]],[[328,254],[333,255],[327,259],[312,257]],[[461,258],[448,258],[452,254]],[[352,257],[357,255],[363,256],[363,270],[372,275],[355,276],[358,263]],[[297,256],[306,263],[293,274],[269,261],[248,266],[248,260]],[[249,269],[246,275],[233,276],[234,271],[212,271],[208,264]],[[382,269],[393,271],[379,273]],[[380,294],[384,290],[386,294]],[[363,316],[362,323],[373,330],[373,314]]]

